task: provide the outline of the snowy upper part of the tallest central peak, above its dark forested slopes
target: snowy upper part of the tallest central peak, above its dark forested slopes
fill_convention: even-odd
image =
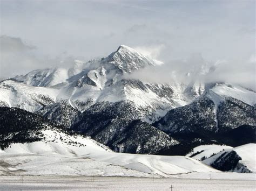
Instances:
[[[125,73],[156,65],[153,60],[127,46],[120,46],[106,58],[86,62],[81,73],[59,84],[58,99],[68,100],[73,108],[85,110],[81,104],[91,102],[132,101],[137,108],[147,108],[144,118],[166,112],[180,105],[172,99],[173,87],[125,79]],[[86,106],[87,107],[87,106]],[[160,111],[160,112],[159,112]]]

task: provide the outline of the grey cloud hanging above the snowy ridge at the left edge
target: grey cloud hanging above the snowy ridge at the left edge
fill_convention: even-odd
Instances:
[[[73,57],[64,52],[58,56],[50,58],[43,54],[38,54],[36,47],[24,43],[21,38],[0,36],[1,61],[0,77],[6,78],[18,74],[30,72],[33,69],[43,69],[48,67],[69,67],[73,63]]]

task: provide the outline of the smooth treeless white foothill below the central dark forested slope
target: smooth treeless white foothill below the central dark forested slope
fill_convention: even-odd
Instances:
[[[139,155],[126,153],[93,153],[90,158],[110,162],[115,165],[137,169],[150,174],[167,177],[170,174],[189,172],[216,172],[215,169],[204,166],[200,161],[183,156]]]

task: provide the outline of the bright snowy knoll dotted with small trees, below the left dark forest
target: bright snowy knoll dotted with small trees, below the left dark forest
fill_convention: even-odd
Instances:
[[[16,143],[6,148],[6,153],[83,155],[91,152],[112,152],[90,137],[69,136],[57,130],[44,130],[44,141],[29,144]]]

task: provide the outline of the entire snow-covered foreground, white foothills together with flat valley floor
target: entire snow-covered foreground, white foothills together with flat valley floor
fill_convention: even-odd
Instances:
[[[57,130],[43,133],[43,141],[11,144],[6,150],[0,150],[0,190],[256,188],[255,173],[220,172],[183,156],[114,153],[89,137],[70,136]],[[204,146],[207,155],[223,148],[208,147],[207,151]],[[239,153],[239,147],[235,149]]]

